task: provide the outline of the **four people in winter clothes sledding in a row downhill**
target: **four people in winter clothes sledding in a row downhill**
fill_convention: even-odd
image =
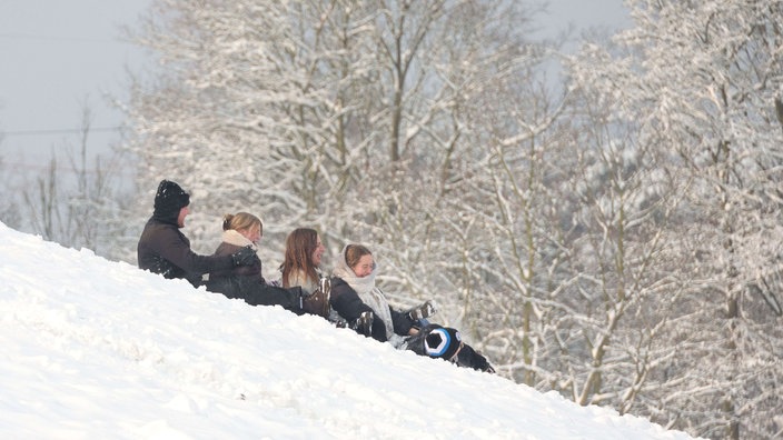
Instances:
[[[189,204],[190,194],[179,184],[160,182],[152,217],[138,243],[140,269],[187,279],[251,306],[280,306],[297,314],[319,316],[400,350],[495,372],[485,357],[462,341],[458,330],[427,320],[435,312],[433,302],[405,311],[389,306],[375,286],[377,264],[367,247],[347,244],[333,274],[323,276],[324,246],[318,232],[296,229],[286,239],[279,282],[267,282],[257,254],[264,233],[260,219],[247,212],[225,216],[221,243],[214,254],[199,256],[180,231],[190,213]]]

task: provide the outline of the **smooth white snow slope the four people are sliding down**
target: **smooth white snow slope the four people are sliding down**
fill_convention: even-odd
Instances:
[[[691,438],[2,223],[0,347],[3,439]]]

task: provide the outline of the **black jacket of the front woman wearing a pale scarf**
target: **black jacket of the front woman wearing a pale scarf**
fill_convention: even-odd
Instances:
[[[329,302],[331,308],[348,322],[354,322],[365,311],[375,313],[375,310],[361,301],[356,290],[339,277],[331,279],[331,298]],[[394,310],[392,307],[389,307],[389,312],[392,313],[394,332],[407,334],[414,324],[410,318],[406,313]],[[371,337],[380,342],[386,342],[386,326],[383,320],[373,320]]]

